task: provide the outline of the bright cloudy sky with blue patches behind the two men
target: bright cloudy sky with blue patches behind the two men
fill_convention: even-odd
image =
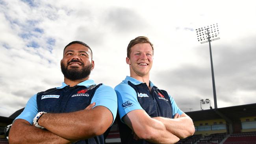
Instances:
[[[209,44],[196,29],[218,23],[211,42],[217,105],[256,103],[256,2],[253,0],[0,0],[0,116],[35,93],[58,87],[63,48],[93,50],[91,79],[115,87],[126,75],[126,47],[137,36],[154,44],[151,81],[183,111],[213,103]],[[202,105],[209,109],[209,105]]]

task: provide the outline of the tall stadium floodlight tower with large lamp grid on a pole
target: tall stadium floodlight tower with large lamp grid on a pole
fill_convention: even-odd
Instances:
[[[215,80],[214,80],[212,55],[211,55],[211,41],[215,41],[215,40],[220,39],[219,37],[217,37],[217,35],[219,35],[218,24],[213,24],[211,26],[206,26],[204,28],[198,28],[198,29],[196,29],[196,31],[197,31],[197,39],[198,39],[198,41],[199,42],[202,41],[201,44],[209,42],[214,108],[217,109],[217,98],[216,98]]]

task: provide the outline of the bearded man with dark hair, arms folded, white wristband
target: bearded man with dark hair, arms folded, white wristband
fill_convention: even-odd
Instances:
[[[35,94],[15,119],[9,143],[104,144],[103,133],[115,120],[117,96],[89,79],[91,48],[80,41],[65,46],[61,87]]]

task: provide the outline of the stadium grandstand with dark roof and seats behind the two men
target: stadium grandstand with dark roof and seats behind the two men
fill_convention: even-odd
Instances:
[[[23,108],[24,109],[24,108]],[[0,116],[0,144],[8,144],[7,126],[23,109],[9,117]],[[256,144],[256,103],[186,112],[194,122],[195,134],[177,144]],[[119,128],[114,122],[107,144],[121,144]]]

